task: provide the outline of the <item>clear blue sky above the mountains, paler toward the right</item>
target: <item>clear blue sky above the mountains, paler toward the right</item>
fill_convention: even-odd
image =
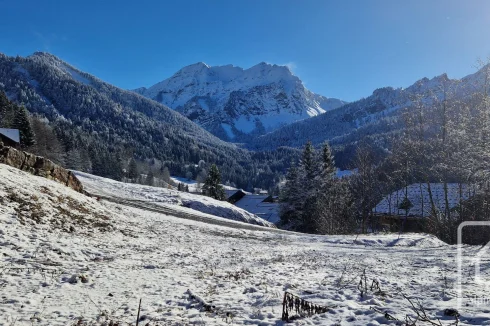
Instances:
[[[122,88],[185,65],[288,64],[306,87],[353,101],[490,55],[490,1],[0,0],[0,52],[48,51]]]

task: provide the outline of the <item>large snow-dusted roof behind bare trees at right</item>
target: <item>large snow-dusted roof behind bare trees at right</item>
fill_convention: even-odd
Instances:
[[[448,183],[447,187],[449,209],[458,206],[460,201],[469,199],[476,191],[473,186],[459,183]],[[439,211],[444,211],[446,209],[444,184],[431,183],[430,189],[436,208]],[[405,193],[412,205],[408,210],[408,216],[427,217],[430,215],[431,205],[426,183],[411,184],[407,189],[402,188],[389,194],[376,205],[373,212],[377,215],[405,216],[407,212],[399,208],[405,199]]]

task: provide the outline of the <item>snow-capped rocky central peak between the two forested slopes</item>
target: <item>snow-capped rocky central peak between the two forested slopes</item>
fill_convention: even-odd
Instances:
[[[310,92],[287,67],[264,62],[249,69],[199,62],[148,89],[134,91],[233,141],[345,104]]]

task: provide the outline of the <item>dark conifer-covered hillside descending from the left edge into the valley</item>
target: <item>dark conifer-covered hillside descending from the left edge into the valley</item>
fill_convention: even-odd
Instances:
[[[240,149],[164,105],[47,53],[0,55],[0,91],[44,123],[44,129],[53,130],[60,143],[59,160],[67,167],[101,176],[120,179],[134,157],[146,164],[141,172],[166,167],[173,174],[191,172],[196,177],[216,163],[224,181],[271,188],[296,155],[290,149]],[[1,118],[3,126],[11,124],[8,116]]]

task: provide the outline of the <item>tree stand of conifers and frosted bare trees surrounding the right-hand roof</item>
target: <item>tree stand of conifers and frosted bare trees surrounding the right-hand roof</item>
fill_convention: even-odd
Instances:
[[[354,146],[356,173],[349,177],[334,177],[328,143],[315,151],[308,142],[282,189],[283,225],[320,234],[386,230],[374,208],[393,191],[412,184],[424,185],[429,193],[422,230],[445,242],[456,243],[463,221],[490,220],[490,66],[482,69],[487,78],[466,96],[443,84],[438,94],[429,94],[432,101],[425,100],[427,94],[413,97],[413,104],[401,112],[402,128]],[[383,151],[380,144],[389,147]],[[460,194],[451,206],[450,184],[476,190],[470,198]],[[442,205],[432,192],[435,185],[442,186]],[[395,209],[408,211],[410,206],[405,197]],[[386,231],[402,232],[403,216],[398,221],[395,229]],[[486,243],[488,231],[474,227],[463,240]]]

